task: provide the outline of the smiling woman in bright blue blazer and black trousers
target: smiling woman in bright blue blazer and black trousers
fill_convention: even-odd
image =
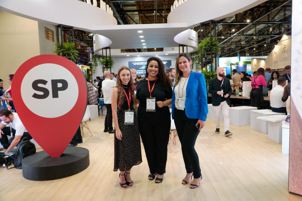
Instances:
[[[172,118],[182,144],[182,156],[187,174],[182,184],[197,188],[202,179],[195,142],[207,118],[207,87],[204,74],[191,71],[191,57],[181,53],[176,60],[175,86],[172,96]]]

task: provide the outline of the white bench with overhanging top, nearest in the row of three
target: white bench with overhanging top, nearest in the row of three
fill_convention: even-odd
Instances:
[[[287,115],[270,115],[257,117],[258,120],[268,122],[268,138],[277,143],[282,143],[282,121]]]

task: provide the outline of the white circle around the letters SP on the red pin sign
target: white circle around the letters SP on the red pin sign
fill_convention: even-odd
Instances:
[[[46,84],[39,83],[37,84],[38,87],[34,87],[41,91],[33,89],[33,82],[35,80],[47,81]],[[56,83],[54,85],[54,94],[52,92],[52,80],[53,83]],[[63,90],[65,87],[60,88],[62,87],[60,80],[67,81],[68,86],[66,90]],[[34,98],[34,94],[41,96],[47,92],[46,89],[41,87],[46,88],[49,95],[43,99]],[[56,94],[58,97],[53,98],[53,95],[56,96]],[[76,78],[70,71],[58,64],[40,64],[35,66],[27,72],[21,83],[21,97],[24,104],[33,113],[45,118],[55,118],[65,115],[76,104],[78,96],[79,87]]]

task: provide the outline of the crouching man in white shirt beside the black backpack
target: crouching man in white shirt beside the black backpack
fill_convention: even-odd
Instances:
[[[32,139],[17,113],[3,109],[0,111],[0,119],[2,120],[0,123],[0,143],[4,147],[5,153],[9,153],[24,137],[27,137],[28,140]],[[10,127],[6,127],[7,124],[10,124],[11,130]],[[11,132],[13,137],[8,140],[7,136],[11,135]]]

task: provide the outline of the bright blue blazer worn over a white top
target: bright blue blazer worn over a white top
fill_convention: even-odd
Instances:
[[[175,111],[174,89],[175,86],[172,96],[172,119],[174,119]],[[206,121],[207,119],[207,86],[203,73],[191,71],[186,88],[185,112],[187,117],[191,119],[202,121]]]

